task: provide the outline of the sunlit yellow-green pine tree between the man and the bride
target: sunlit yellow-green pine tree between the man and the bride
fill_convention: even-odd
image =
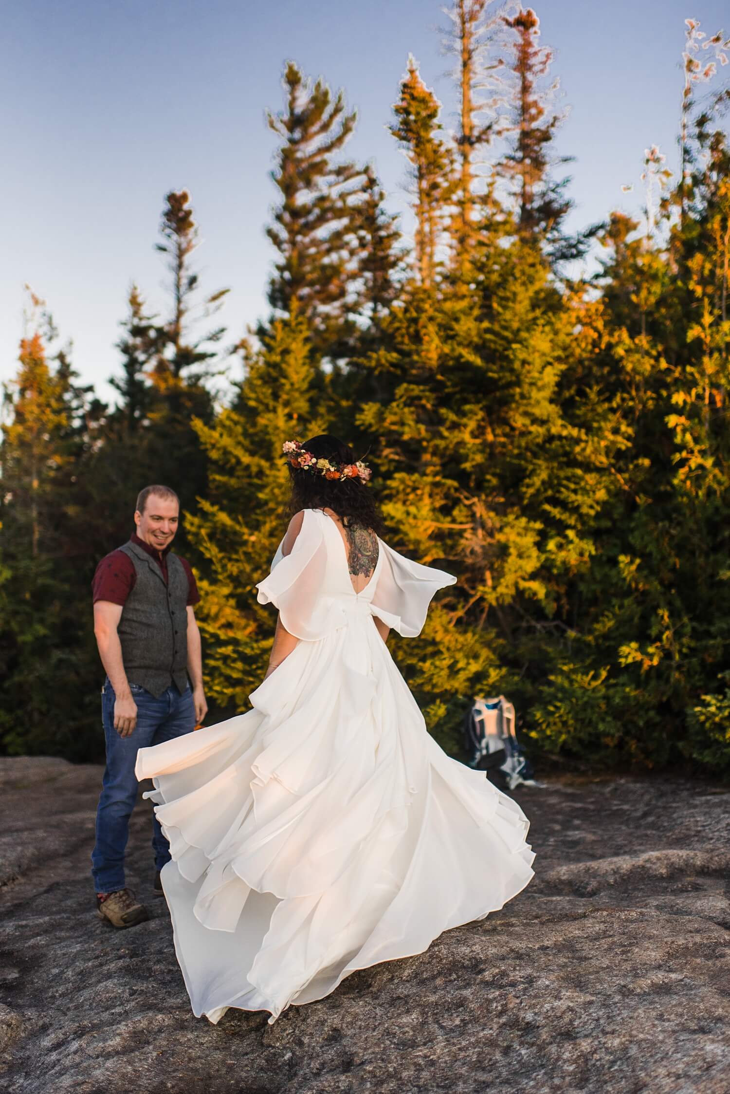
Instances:
[[[221,710],[240,710],[263,677],[275,614],[256,603],[286,528],[289,475],[282,443],[320,432],[318,361],[296,304],[275,319],[260,348],[245,344],[238,397],[211,424],[196,422],[209,465],[199,512],[189,519],[204,559],[197,613],[205,642],[207,690]]]

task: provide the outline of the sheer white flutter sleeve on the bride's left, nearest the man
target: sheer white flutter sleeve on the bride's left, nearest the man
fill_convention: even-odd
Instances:
[[[257,583],[257,600],[279,608],[290,635],[314,642],[345,622],[329,587],[322,514],[306,509],[290,555],[282,552],[283,543],[273,557],[269,577]]]

